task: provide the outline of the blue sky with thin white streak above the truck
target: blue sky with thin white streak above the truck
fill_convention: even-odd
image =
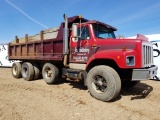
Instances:
[[[0,44],[60,26],[63,14],[118,29],[116,35],[160,34],[159,0],[0,0]]]

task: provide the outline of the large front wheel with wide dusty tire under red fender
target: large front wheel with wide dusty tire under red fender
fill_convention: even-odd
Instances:
[[[118,96],[121,80],[117,72],[105,65],[92,68],[86,79],[90,94],[101,101],[110,101]]]

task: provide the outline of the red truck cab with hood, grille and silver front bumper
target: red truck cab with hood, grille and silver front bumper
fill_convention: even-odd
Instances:
[[[140,34],[136,39],[116,38],[116,30],[96,20],[73,24],[70,33],[71,68],[89,70],[94,65],[105,64],[116,69],[122,80],[154,79],[157,67],[153,64],[152,43]],[[152,67],[149,71],[145,69]]]

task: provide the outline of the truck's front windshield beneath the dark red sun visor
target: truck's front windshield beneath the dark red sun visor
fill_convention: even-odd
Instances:
[[[106,39],[106,38],[116,38],[113,30],[107,28],[104,25],[93,24],[94,34],[97,38]]]

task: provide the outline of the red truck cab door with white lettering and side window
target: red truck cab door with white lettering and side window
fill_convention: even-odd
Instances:
[[[70,62],[86,63],[91,55],[91,36],[89,27],[84,25],[78,28],[78,38],[71,37],[70,39]]]

